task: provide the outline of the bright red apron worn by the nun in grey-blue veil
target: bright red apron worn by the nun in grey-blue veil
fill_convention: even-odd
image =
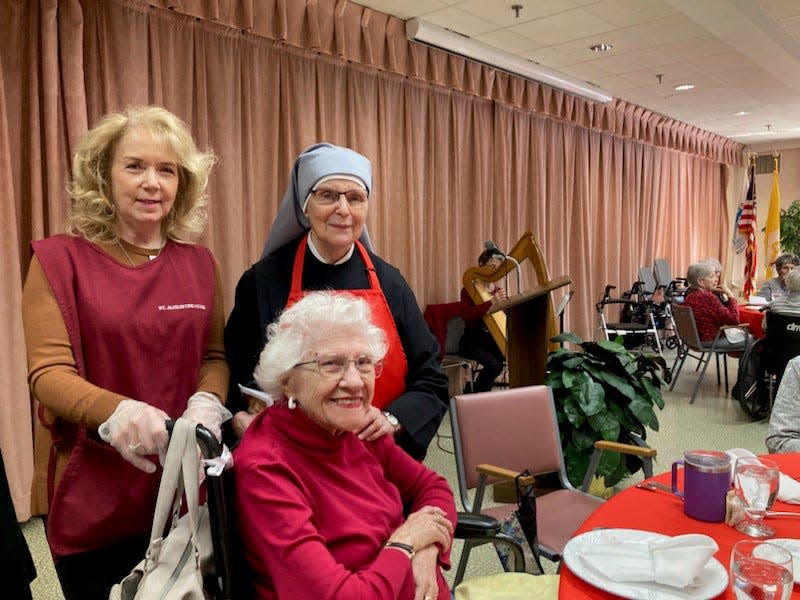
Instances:
[[[308,236],[300,241],[300,245],[297,247],[297,253],[294,257],[292,289],[289,290],[289,299],[286,301],[287,308],[308,293],[303,291],[303,263],[305,261],[307,245]],[[357,298],[361,298],[369,304],[370,311],[372,312],[372,322],[383,329],[383,332],[386,334],[387,350],[386,356],[383,359],[383,372],[375,381],[375,396],[372,399],[373,405],[383,409],[405,391],[408,361],[403,351],[403,344],[400,342],[400,335],[397,333],[397,326],[394,324],[392,312],[389,310],[389,305],[386,303],[386,297],[383,295],[378,276],[375,274],[375,266],[372,264],[372,260],[364,249],[364,246],[362,246],[361,242],[358,240],[356,240],[356,248],[361,255],[361,260],[364,261],[364,265],[367,267],[369,288],[363,290],[346,290],[346,292]]]

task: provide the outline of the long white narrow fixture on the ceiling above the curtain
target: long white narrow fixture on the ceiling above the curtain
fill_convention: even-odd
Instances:
[[[544,83],[554,88],[564,90],[570,94],[594,100],[595,102],[609,102],[613,96],[607,91],[586,81],[573,79],[563,73],[554,71],[535,62],[525,60],[519,56],[503,52],[497,48],[478,42],[467,36],[443,29],[420,19],[406,21],[406,37],[409,40],[428,44],[459,54],[472,60],[482,62],[490,67],[508,71],[527,79]]]

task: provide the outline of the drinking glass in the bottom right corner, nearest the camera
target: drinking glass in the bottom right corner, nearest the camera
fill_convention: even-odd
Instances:
[[[794,585],[792,555],[759,540],[740,540],[731,552],[731,586],[737,600],[788,600]]]

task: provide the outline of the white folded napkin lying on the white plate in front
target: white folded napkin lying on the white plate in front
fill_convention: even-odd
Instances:
[[[658,542],[592,544],[580,558],[588,570],[605,579],[684,588],[717,550],[707,535],[687,533]]]

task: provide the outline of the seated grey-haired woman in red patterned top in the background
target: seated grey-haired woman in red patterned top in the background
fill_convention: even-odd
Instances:
[[[720,283],[717,265],[701,260],[689,265],[686,271],[689,291],[683,304],[692,308],[700,340],[704,342],[711,342],[720,327],[739,323],[739,304],[730,288]],[[721,342],[722,346],[728,344],[724,339]]]

